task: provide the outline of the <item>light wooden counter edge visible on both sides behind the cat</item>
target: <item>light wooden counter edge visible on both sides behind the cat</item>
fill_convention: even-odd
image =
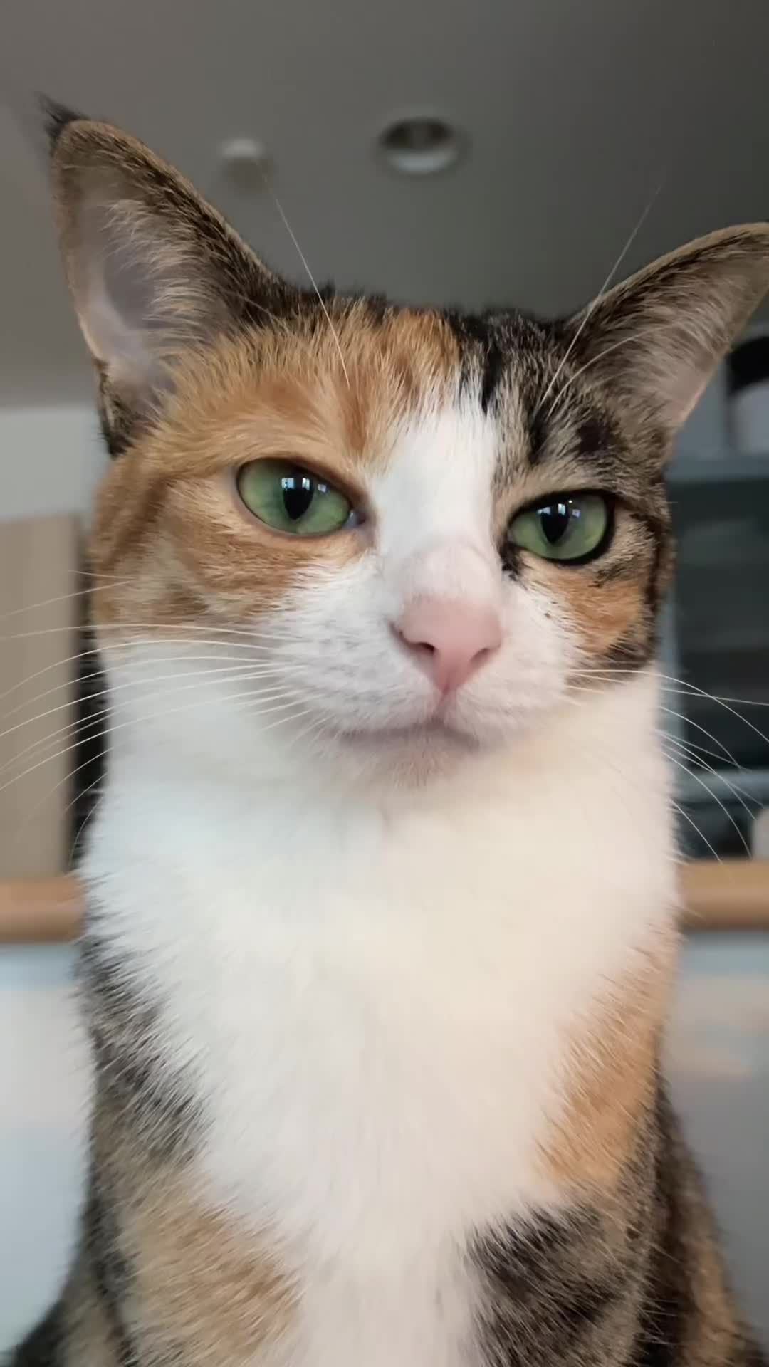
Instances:
[[[769,930],[769,860],[681,867],[687,930]],[[81,920],[73,875],[0,879],[0,943],[71,939]]]

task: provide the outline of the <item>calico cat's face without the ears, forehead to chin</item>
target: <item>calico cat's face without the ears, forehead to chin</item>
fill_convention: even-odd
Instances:
[[[283,690],[302,725],[356,745],[424,727],[504,740],[583,671],[643,664],[668,559],[660,484],[634,480],[595,402],[535,447],[546,334],[542,377],[509,344],[483,405],[480,349],[443,317],[354,305],[334,327],[346,375],[319,320],[238,338],[116,459],[93,559],[127,582],[94,596],[103,638],[233,629],[219,656],[250,637],[275,705]]]

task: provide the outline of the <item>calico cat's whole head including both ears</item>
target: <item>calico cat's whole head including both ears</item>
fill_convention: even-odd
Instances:
[[[187,745],[402,772],[646,668],[665,462],[769,287],[768,227],[540,323],[301,290],[103,123],[55,113],[52,164],[115,457],[93,612],[126,720],[142,697]]]

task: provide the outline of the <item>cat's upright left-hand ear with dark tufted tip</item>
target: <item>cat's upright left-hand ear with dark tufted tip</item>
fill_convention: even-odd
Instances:
[[[135,138],[59,107],[47,115],[64,267],[115,452],[185,351],[285,313],[294,291]]]

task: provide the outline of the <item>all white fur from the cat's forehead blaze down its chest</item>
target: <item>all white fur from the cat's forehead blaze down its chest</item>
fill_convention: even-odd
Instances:
[[[401,435],[372,551],[255,627],[276,716],[255,681],[190,703],[177,659],[151,703],[146,648],[111,662],[85,874],[204,1103],[201,1199],[297,1277],[267,1367],[476,1363],[468,1240],[565,1199],[569,1039],[670,915],[654,678],[565,697],[573,630],[495,560],[494,459],[479,414]],[[402,731],[435,700],[389,623],[443,576],[504,647],[453,735]]]

